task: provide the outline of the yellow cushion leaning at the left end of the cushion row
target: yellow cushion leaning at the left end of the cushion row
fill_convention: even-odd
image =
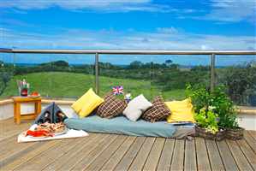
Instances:
[[[98,95],[92,91],[92,88],[90,88],[82,97],[73,103],[71,107],[76,111],[80,118],[82,118],[90,115],[92,111],[103,102],[104,99],[98,97]]]

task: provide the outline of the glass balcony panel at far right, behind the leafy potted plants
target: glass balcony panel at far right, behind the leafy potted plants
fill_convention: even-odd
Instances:
[[[217,56],[216,75],[235,104],[256,106],[256,56]]]

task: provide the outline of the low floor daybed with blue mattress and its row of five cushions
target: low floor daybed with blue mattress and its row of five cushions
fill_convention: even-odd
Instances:
[[[181,103],[181,102],[180,102]],[[118,99],[112,92],[98,97],[92,88],[80,97],[71,106],[77,114],[77,118],[68,118],[65,124],[68,128],[84,130],[92,133],[116,133],[131,136],[164,137],[183,139],[194,134],[191,105],[188,100],[182,101],[182,105],[176,105],[178,112],[170,115],[170,103],[164,103],[161,96],[154,97],[152,103],[140,94],[131,101],[125,102]],[[173,108],[175,111],[175,108]],[[176,117],[191,121],[185,126],[177,126],[172,117],[175,113],[182,114]],[[190,114],[188,117],[186,114]],[[78,118],[79,117],[79,118]],[[171,123],[170,123],[171,122]]]

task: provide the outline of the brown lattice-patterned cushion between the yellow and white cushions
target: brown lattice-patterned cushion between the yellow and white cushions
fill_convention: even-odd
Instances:
[[[104,96],[104,103],[98,107],[96,114],[104,118],[112,118],[121,115],[127,104],[116,98],[111,92]]]

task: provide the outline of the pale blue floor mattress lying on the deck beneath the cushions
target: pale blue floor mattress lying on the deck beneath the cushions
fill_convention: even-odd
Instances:
[[[98,115],[92,115],[82,119],[68,118],[64,122],[68,128],[92,133],[116,133],[132,136],[170,138],[176,132],[176,127],[166,121],[154,123],[144,120],[129,121],[124,116],[105,119]]]

